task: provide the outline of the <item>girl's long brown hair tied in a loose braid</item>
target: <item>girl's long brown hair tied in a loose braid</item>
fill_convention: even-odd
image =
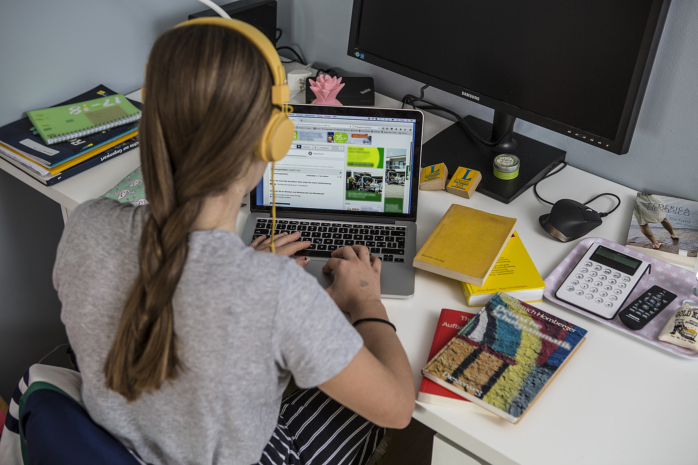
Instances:
[[[172,295],[202,202],[247,172],[272,112],[269,67],[236,31],[170,29],[148,59],[140,156],[150,215],[140,271],[104,364],[107,388],[128,401],[183,369]]]

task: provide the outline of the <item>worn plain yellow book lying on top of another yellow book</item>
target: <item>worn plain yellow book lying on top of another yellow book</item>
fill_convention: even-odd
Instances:
[[[453,204],[412,265],[482,286],[517,226],[517,219]]]

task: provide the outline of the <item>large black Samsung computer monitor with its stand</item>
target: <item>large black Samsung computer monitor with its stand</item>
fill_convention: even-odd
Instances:
[[[426,142],[422,166],[482,172],[482,191],[510,202],[565,158],[514,133],[521,118],[616,154],[630,148],[670,0],[354,0],[348,54],[495,110]],[[493,176],[496,154],[519,176]]]

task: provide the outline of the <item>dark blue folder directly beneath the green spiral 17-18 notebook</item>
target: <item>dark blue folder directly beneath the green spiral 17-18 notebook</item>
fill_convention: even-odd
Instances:
[[[115,94],[115,92],[109,87],[98,85],[89,91],[83,92],[79,96],[59,103],[59,105],[68,105],[70,103],[112,94]],[[140,102],[131,102],[133,105],[136,105],[137,108],[141,108],[142,104]],[[112,128],[108,131],[86,135],[75,140],[47,145],[44,140],[34,132],[34,125],[29,121],[29,117],[24,117],[0,127],[0,142],[10,149],[13,149],[15,152],[22,154],[22,156],[29,158],[31,161],[43,167],[52,168],[60,163],[65,163],[70,160],[70,158],[94,150],[96,147],[99,147],[99,145],[115,140],[121,137],[121,135],[133,131],[135,128],[138,128],[138,121]]]

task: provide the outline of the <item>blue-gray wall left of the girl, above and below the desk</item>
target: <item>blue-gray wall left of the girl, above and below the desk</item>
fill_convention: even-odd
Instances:
[[[2,0],[0,125],[97,84],[128,93],[142,85],[156,36],[195,0]],[[30,364],[67,341],[52,286],[63,231],[59,205],[0,171],[0,397]],[[47,362],[68,366],[65,349]]]

